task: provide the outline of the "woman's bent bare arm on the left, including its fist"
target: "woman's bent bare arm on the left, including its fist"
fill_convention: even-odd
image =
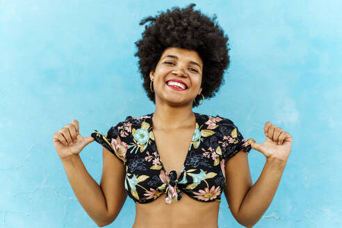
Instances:
[[[52,139],[72,190],[83,209],[100,227],[113,222],[127,197],[124,190],[125,170],[122,161],[104,148],[104,165],[99,186],[79,156],[83,148],[94,141],[92,136],[81,136],[79,122],[72,120],[71,124],[55,132]]]

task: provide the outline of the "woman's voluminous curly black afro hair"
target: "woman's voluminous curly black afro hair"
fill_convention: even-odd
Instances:
[[[186,8],[173,7],[158,12],[156,17],[145,17],[140,25],[145,25],[141,40],[135,42],[138,50],[134,56],[139,58],[139,70],[144,80],[143,88],[147,97],[156,103],[154,93],[149,89],[149,72],[156,65],[168,47],[178,47],[197,51],[203,61],[202,95],[215,97],[224,83],[223,74],[229,67],[228,37],[216,22],[216,15],[208,17],[191,3]],[[193,107],[198,106],[202,96],[197,96]]]

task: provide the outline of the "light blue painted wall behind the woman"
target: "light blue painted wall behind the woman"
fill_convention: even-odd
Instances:
[[[229,35],[231,66],[218,95],[194,111],[229,117],[257,142],[266,121],[293,136],[275,199],[255,227],[338,227],[342,2],[195,3],[216,13]],[[138,23],[187,4],[0,0],[0,227],[95,227],[72,192],[52,134],[76,119],[89,136],[154,111],[133,56]],[[101,150],[94,142],[81,153],[97,181]],[[254,183],[266,160],[252,150],[249,161]],[[134,214],[128,198],[108,227],[131,227]],[[224,198],[219,226],[242,227]]]

